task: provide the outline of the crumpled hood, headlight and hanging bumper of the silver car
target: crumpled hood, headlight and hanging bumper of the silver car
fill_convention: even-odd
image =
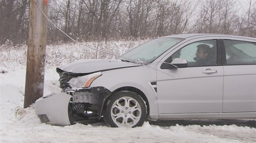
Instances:
[[[86,68],[84,67],[86,65]],[[48,116],[40,113],[36,108],[39,118],[42,122],[52,125],[70,125],[77,122],[81,123],[91,123],[100,120],[103,111],[103,103],[111,91],[103,86],[91,87],[91,83],[102,76],[102,72],[110,71],[114,69],[122,69],[129,67],[141,66],[136,63],[122,62],[121,60],[79,60],[72,62],[68,65],[57,68],[57,73],[59,74],[59,83],[62,92],[58,94],[48,95],[42,97],[42,99],[49,98],[48,100],[37,101],[36,106],[43,106],[40,102],[45,102],[47,106],[49,102],[57,101],[55,107],[49,108],[47,111]],[[67,96],[68,95],[68,96]],[[52,99],[51,99],[52,98]],[[57,100],[53,99],[57,98]],[[58,99],[65,99],[65,101],[58,101]],[[61,104],[65,104],[60,106]],[[64,107],[66,106],[66,107]],[[63,120],[49,119],[54,117],[55,113],[63,113],[61,118]]]

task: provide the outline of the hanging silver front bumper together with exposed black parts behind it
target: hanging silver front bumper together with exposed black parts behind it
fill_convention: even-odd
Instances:
[[[42,122],[51,125],[71,125],[82,120],[100,119],[103,105],[110,94],[103,87],[73,88],[66,93],[39,98],[35,102],[35,110]]]

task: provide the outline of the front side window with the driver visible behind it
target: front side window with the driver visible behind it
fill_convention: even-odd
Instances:
[[[188,44],[176,51],[165,62],[175,58],[187,60],[188,67],[213,66],[217,64],[217,40],[203,40]]]

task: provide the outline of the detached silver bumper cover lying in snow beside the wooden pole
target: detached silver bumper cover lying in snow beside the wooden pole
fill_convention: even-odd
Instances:
[[[35,110],[41,122],[51,125],[71,125],[68,113],[70,98],[71,96],[66,93],[58,93],[37,99]]]

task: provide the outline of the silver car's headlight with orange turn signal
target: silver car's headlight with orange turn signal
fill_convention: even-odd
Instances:
[[[101,72],[95,72],[93,74],[88,74],[85,76],[78,76],[76,78],[71,78],[71,80],[69,81],[69,85],[72,88],[88,88],[90,87],[92,81],[94,81],[97,77],[101,76]]]

